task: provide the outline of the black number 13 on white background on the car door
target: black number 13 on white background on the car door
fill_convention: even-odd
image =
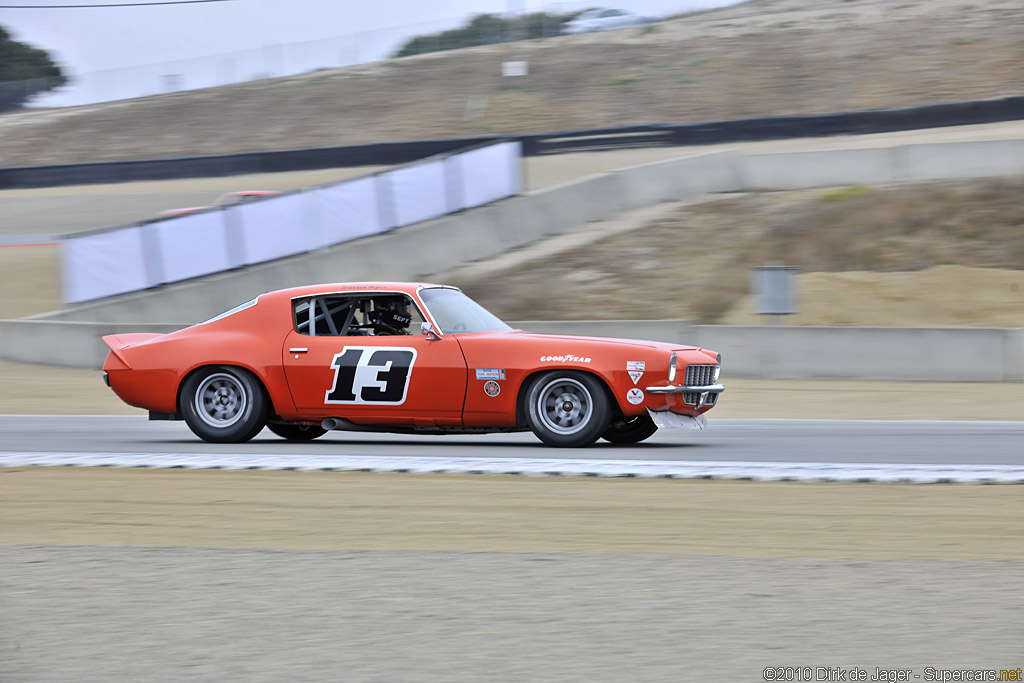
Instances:
[[[346,346],[331,360],[334,384],[324,402],[400,405],[415,361],[415,348]]]

